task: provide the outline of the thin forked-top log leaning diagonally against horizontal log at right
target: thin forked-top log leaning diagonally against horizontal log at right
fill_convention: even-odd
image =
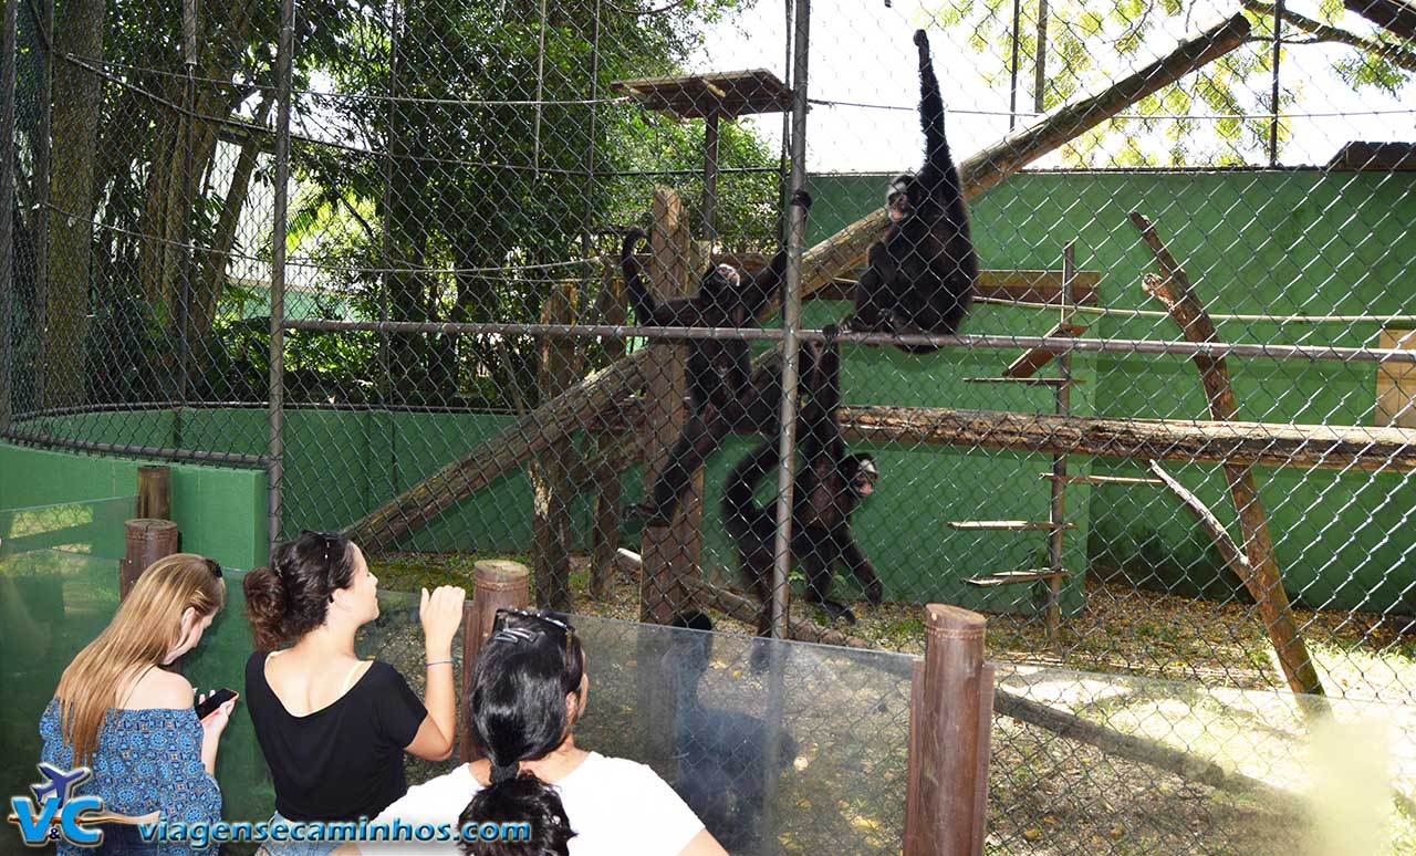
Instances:
[[[1205,311],[1204,301],[1195,294],[1189,276],[1175,262],[1164,242],[1155,233],[1154,226],[1140,212],[1133,211],[1131,222],[1141,232],[1141,239],[1150,246],[1155,262],[1164,272],[1164,279],[1150,276],[1146,279],[1146,290],[1160,300],[1171,318],[1191,342],[1218,342],[1219,331]],[[1235,402],[1233,386],[1229,383],[1229,368],[1223,357],[1206,357],[1197,354],[1195,365],[1199,368],[1199,379],[1205,386],[1205,398],[1209,400],[1209,413],[1216,422],[1233,420],[1239,412]],[[1249,573],[1242,576],[1249,594],[1259,604],[1259,617],[1263,620],[1264,631],[1279,652],[1279,664],[1289,679],[1293,692],[1317,695],[1323,693],[1323,682],[1308,657],[1308,649],[1298,634],[1298,623],[1293,618],[1289,607],[1289,593],[1283,589],[1283,572],[1273,555],[1273,539],[1269,535],[1269,518],[1263,511],[1263,499],[1259,497],[1259,487],[1247,465],[1226,463],[1223,465],[1225,478],[1229,481],[1229,495],[1233,497],[1235,509],[1239,512],[1239,529],[1243,532],[1243,552],[1249,560]],[[1211,515],[1214,516],[1214,515]]]

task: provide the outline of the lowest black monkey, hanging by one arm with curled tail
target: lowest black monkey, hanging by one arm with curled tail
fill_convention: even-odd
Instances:
[[[837,565],[865,587],[872,604],[879,604],[882,586],[869,559],[851,536],[851,514],[875,491],[879,468],[865,454],[845,454],[834,410],[840,403],[840,355],[828,338],[811,345],[816,351],[803,369],[811,400],[801,409],[800,430],[804,465],[797,471],[792,504],[792,555],[807,579],[806,596],[821,606],[833,621],[855,624],[855,614],[830,598]],[[806,347],[803,357],[806,357]],[[759,505],[753,490],[782,457],[776,440],[769,440],[742,458],[724,485],[721,509],[724,528],[738,548],[745,582],[758,597],[758,634],[770,631],[772,566],[776,509]]]

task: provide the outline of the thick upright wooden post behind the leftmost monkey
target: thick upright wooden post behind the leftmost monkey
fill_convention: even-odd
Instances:
[[[692,294],[698,287],[690,239],[688,216],[678,194],[668,188],[654,190],[654,231],[650,235],[650,287],[658,300]],[[644,420],[644,453],[649,465],[644,468],[644,494],[654,490],[654,480],[668,458],[668,451],[684,429],[688,413],[684,407],[687,383],[684,382],[683,342],[654,342],[649,375],[649,410]],[[647,526],[639,555],[643,559],[639,589],[639,620],[653,624],[668,624],[674,613],[688,603],[688,593],[680,582],[691,577],[698,566],[698,552],[702,536],[698,524],[702,518],[702,473],[694,478],[678,499],[678,508],[670,526]]]

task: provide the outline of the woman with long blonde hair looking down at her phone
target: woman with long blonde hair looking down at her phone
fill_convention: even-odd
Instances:
[[[225,600],[221,566],[211,559],[159,559],[64,669],[40,720],[41,757],[62,770],[92,770],[76,792],[102,797],[105,812],[156,812],[161,822],[221,819],[217,743],[235,702],[198,722],[191,683],[163,666],[197,647]],[[59,842],[58,852],[85,850]],[[187,843],[144,842],[137,826],[123,823],[103,826],[103,852],[193,853]]]

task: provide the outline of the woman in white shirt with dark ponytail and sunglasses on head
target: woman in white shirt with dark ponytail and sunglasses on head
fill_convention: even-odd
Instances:
[[[501,610],[477,655],[467,716],[487,757],[409,788],[375,822],[530,823],[530,840],[362,842],[361,853],[715,856],[725,850],[643,764],[575,744],[589,679],[575,628]],[[470,801],[469,801],[470,799]]]

